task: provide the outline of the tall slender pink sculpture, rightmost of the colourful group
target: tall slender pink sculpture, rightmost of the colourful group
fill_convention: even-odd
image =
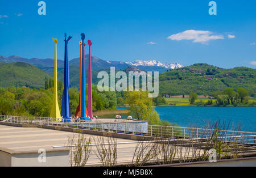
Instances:
[[[93,117],[92,112],[92,60],[90,54],[90,46],[92,45],[92,41],[88,40],[89,45],[89,67],[88,67],[88,116],[90,118]]]

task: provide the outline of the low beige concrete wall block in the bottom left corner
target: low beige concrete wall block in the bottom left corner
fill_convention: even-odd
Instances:
[[[0,148],[0,166],[69,166],[69,150],[46,150],[46,162],[39,162],[38,151],[13,151]]]

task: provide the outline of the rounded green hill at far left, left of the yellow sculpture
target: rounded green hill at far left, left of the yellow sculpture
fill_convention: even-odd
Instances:
[[[45,71],[24,62],[0,62],[1,87],[44,87]]]

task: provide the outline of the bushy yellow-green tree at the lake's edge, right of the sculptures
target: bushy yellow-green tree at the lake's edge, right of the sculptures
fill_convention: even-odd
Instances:
[[[148,124],[159,125],[160,118],[154,109],[152,98],[148,98],[148,91],[128,91],[125,96],[135,118],[147,120]]]

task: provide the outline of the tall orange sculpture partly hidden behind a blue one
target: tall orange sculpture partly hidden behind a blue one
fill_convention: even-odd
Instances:
[[[79,41],[79,44],[80,44],[80,95],[79,95],[79,105],[76,108],[75,117],[81,117],[81,107],[82,107],[82,104],[81,104],[81,101],[82,101],[81,99],[82,98],[82,47],[83,47],[82,41]],[[84,44],[84,46],[85,45],[86,44]],[[86,73],[84,78],[85,78],[85,91],[86,91]],[[85,107],[85,113],[86,113],[86,116],[88,116],[86,107]]]

